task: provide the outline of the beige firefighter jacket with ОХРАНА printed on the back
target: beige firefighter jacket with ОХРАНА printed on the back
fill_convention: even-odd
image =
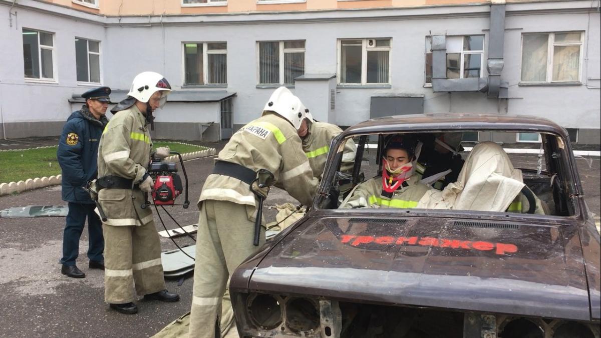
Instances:
[[[219,152],[217,161],[243,165],[253,171],[261,168],[273,173],[275,183],[302,204],[310,205],[317,189],[317,179],[307,156],[302,152],[296,129],[279,115],[267,113],[237,131]],[[230,201],[255,206],[250,186],[234,177],[210,174],[198,199]]]

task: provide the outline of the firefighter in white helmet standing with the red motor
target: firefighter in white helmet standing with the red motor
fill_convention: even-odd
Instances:
[[[142,209],[154,186],[147,169],[152,141],[148,124],[153,111],[162,106],[171,91],[159,73],[139,73],[127,98],[111,109],[111,118],[100,138],[98,155],[98,210],[106,217],[105,301],[111,309],[133,314],[132,284],[146,300],[178,301],[165,289],[160,260],[159,236],[149,207]],[[156,156],[165,158],[169,149],[160,147]]]

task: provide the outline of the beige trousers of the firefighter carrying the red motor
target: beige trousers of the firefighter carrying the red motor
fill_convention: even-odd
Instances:
[[[159,234],[154,221],[144,226],[108,226],[105,236],[105,302],[133,301],[133,284],[138,295],[165,289],[160,260]]]

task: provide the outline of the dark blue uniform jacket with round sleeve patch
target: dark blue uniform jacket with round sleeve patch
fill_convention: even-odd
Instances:
[[[94,203],[82,186],[88,180],[96,179],[98,145],[106,123],[108,120],[105,116],[97,120],[86,105],[67,118],[56,152],[58,164],[63,170],[64,201]]]

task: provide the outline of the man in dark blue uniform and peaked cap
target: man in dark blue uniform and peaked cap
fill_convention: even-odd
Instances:
[[[98,146],[100,136],[108,120],[105,117],[111,88],[100,87],[86,91],[81,96],[85,105],[67,118],[63,134],[58,142],[56,158],[63,170],[63,200],[69,202],[67,226],[63,233],[63,258],[61,273],[73,278],[85,274],[75,265],[78,257],[79,238],[88,218],[88,258],[90,269],[105,269],[102,221],[94,208],[90,194],[82,188],[89,180],[96,179]]]

